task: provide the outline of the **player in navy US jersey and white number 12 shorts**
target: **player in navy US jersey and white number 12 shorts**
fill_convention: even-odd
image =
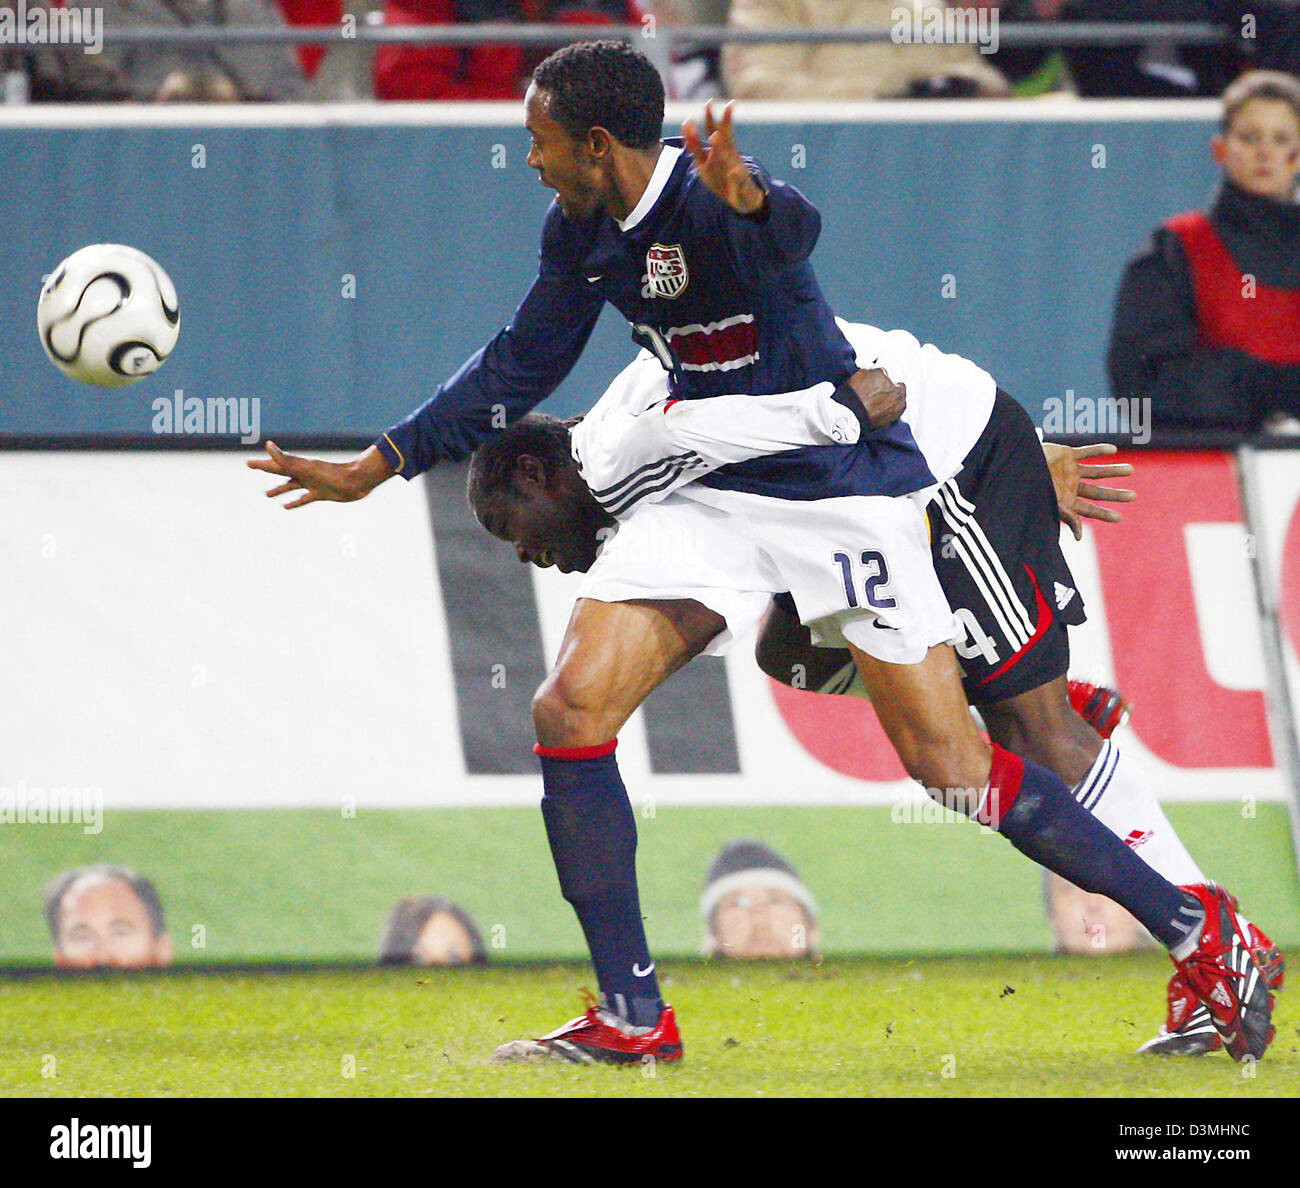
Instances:
[[[395,473],[412,478],[438,459],[465,456],[490,435],[498,407],[514,420],[554,391],[604,302],[629,318],[670,370],[677,399],[838,383],[855,370],[807,259],[820,218],[797,190],[741,157],[729,108],[718,121],[706,113],[703,135],[686,123],[680,144],[662,142],[663,86],[653,65],[621,43],[597,42],[551,55],[534,74],[525,110],[528,162],[556,198],[542,231],[538,277],[514,320],[351,463],[292,458],[268,442],[269,458],[250,465],[286,480],[269,494],[294,494],[287,507],[359,499]],[[930,486],[933,476],[910,432],[894,424],[874,426],[853,446],[757,458],[701,482],[719,507],[742,497],[797,511],[836,497],[880,508],[894,502],[890,497]],[[861,550],[855,539],[835,562],[826,559],[827,567],[844,567],[836,589],[850,606],[858,598],[893,600],[884,593],[887,568],[928,581],[927,594],[937,590],[928,545],[927,578],[924,569],[909,569],[919,567],[919,554],[916,533],[904,525],[906,511],[890,515],[897,523],[888,528],[859,521],[862,533],[888,539],[885,551]],[[858,551],[875,567],[861,594],[850,584]],[[840,569],[831,573],[838,582]],[[636,581],[623,586],[636,588]],[[939,604],[946,610],[941,595]],[[1230,906],[1201,902],[1154,875],[1063,781],[980,737],[949,645],[950,619],[950,612],[946,621],[927,619],[919,651],[910,639],[906,656],[892,632],[870,629],[868,617],[845,628],[909,775],[949,807],[993,824],[1028,857],[1127,907],[1186,964],[1228,1050],[1238,1059],[1262,1054],[1271,1039],[1271,998],[1240,946],[1231,955],[1242,968],[1223,958],[1234,929]],[[547,838],[602,1005],[545,1042],[526,1041],[528,1050],[582,1062],[681,1055],[641,920],[636,821],[615,745],[649,693],[725,630],[724,616],[707,602],[653,581],[575,607],[533,719]]]

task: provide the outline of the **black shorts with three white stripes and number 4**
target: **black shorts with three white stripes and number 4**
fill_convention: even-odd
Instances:
[[[1052,476],[1030,415],[1001,389],[956,478],[926,508],[935,572],[966,628],[957,645],[971,704],[1062,676],[1083,597],[1061,552]]]

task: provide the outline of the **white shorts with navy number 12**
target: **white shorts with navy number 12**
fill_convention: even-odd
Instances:
[[[727,620],[705,649],[723,655],[783,590],[819,647],[916,664],[962,638],[924,512],[885,495],[801,502],[693,485],[621,521],[577,597],[694,599]]]

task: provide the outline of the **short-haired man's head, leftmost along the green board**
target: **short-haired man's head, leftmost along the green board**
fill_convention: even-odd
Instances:
[[[153,884],[125,866],[87,866],[46,890],[55,962],[72,970],[144,970],[172,963],[162,901]]]

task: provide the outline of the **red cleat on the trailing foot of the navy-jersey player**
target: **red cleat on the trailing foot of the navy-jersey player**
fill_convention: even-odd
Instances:
[[[1238,915],[1232,897],[1213,883],[1182,889],[1205,909],[1205,923],[1196,951],[1174,964],[1228,1055],[1257,1061],[1273,1041],[1273,990],[1251,954],[1251,925]],[[1186,1022],[1184,1014],[1179,1014],[1180,1026],[1191,1026],[1195,1011]]]

